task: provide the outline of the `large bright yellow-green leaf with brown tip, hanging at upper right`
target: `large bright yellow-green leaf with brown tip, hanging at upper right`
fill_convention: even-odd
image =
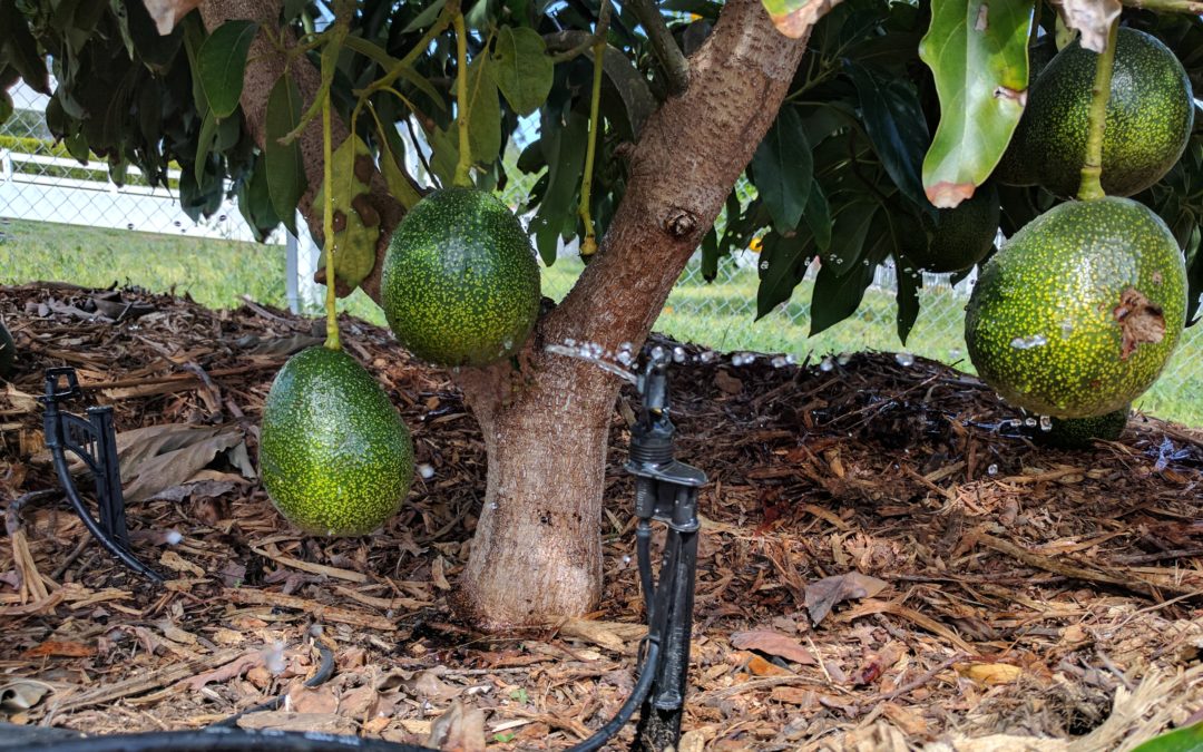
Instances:
[[[940,126],[923,161],[928,200],[973,195],[1011,141],[1027,95],[1032,0],[932,0],[919,57],[936,77]]]

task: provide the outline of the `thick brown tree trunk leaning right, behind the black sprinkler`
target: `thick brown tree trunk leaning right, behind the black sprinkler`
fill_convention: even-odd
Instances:
[[[206,0],[202,11],[212,28],[225,18],[248,17],[248,8],[255,8],[251,17],[274,17],[272,5]],[[546,624],[597,604],[603,503],[630,503],[603,499],[618,385],[593,366],[543,348],[574,338],[615,350],[647,337],[776,117],[804,47],[805,36],[788,40],[774,29],[759,0],[729,0],[689,60],[688,89],[666,101],[640,134],[626,196],[597,257],[564,302],[540,320],[522,368],[503,362],[457,377],[488,451],[484,509],[456,588],[457,609],[478,626]],[[256,71],[256,65],[248,67],[242,105],[261,140],[267,94],[278,73]],[[313,159],[304,143],[303,149],[312,172],[320,158]],[[314,215],[308,205],[303,211]],[[378,264],[363,284],[369,295],[379,290],[379,270]]]

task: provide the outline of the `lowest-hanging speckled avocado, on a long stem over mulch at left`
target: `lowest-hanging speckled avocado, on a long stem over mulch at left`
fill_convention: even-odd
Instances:
[[[343,351],[297,353],[272,383],[259,443],[263,486],[292,525],[365,535],[397,513],[414,445],[380,385]]]

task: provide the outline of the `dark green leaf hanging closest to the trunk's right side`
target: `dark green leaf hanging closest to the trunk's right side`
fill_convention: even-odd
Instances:
[[[789,232],[798,226],[810,199],[814,165],[802,119],[793,107],[777,113],[772,128],[752,156],[752,174],[772,226]]]

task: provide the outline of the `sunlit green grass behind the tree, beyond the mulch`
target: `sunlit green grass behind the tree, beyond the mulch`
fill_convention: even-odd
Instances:
[[[154,291],[174,289],[211,308],[230,308],[242,296],[285,306],[284,249],[188,236],[97,230],[45,223],[0,225],[0,284],[60,280],[88,286],[134,284]],[[544,270],[544,294],[561,300],[582,265],[562,259]],[[793,300],[760,321],[753,321],[754,270],[724,267],[719,282],[707,285],[687,278],[672,291],[656,328],[682,341],[718,350],[792,353],[822,357],[831,353],[903,349],[894,328],[893,294],[869,290],[848,320],[813,338],[810,327],[810,280]],[[972,371],[961,338],[965,301],[947,289],[923,292],[923,309],[906,351]],[[340,307],[374,324],[384,315],[362,292]],[[1139,401],[1152,415],[1203,426],[1203,325],[1190,328],[1162,378]]]

